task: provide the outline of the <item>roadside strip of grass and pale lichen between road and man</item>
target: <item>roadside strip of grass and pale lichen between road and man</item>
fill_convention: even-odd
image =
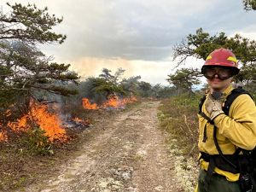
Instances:
[[[198,102],[202,93],[183,93],[160,103],[160,130],[174,160],[174,174],[184,191],[193,191],[198,172]]]

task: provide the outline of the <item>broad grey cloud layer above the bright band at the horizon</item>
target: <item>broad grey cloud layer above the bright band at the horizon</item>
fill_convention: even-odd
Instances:
[[[11,0],[25,3],[25,0]],[[234,33],[256,23],[256,12],[245,12],[241,0],[76,0],[29,1],[63,15],[55,28],[67,34],[59,46],[47,45],[49,55],[62,60],[80,57],[163,61],[172,46],[199,27],[213,34]]]

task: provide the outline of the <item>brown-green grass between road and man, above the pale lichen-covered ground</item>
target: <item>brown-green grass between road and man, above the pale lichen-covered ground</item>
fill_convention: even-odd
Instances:
[[[160,127],[168,135],[170,147],[179,154],[193,156],[195,160],[198,155],[197,112],[200,98],[201,95],[182,95],[164,100],[158,114]]]

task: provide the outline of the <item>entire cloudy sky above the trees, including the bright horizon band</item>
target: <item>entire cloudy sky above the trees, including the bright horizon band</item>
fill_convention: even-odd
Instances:
[[[102,68],[122,67],[125,77],[141,75],[151,84],[167,85],[174,73],[173,46],[202,27],[216,35],[236,33],[256,39],[256,11],[245,11],[242,0],[0,0],[3,13],[9,3],[35,3],[50,15],[63,16],[55,32],[67,35],[63,44],[40,45],[55,61],[70,63],[84,79]],[[189,58],[181,67],[201,67]],[[204,80],[202,80],[203,83]]]

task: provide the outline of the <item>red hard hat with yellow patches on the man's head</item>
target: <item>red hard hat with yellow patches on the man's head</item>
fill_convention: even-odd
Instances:
[[[229,67],[232,69],[234,75],[239,73],[237,68],[237,59],[229,49],[215,49],[210,55],[207,56],[207,60],[201,71],[203,72],[206,67]]]

